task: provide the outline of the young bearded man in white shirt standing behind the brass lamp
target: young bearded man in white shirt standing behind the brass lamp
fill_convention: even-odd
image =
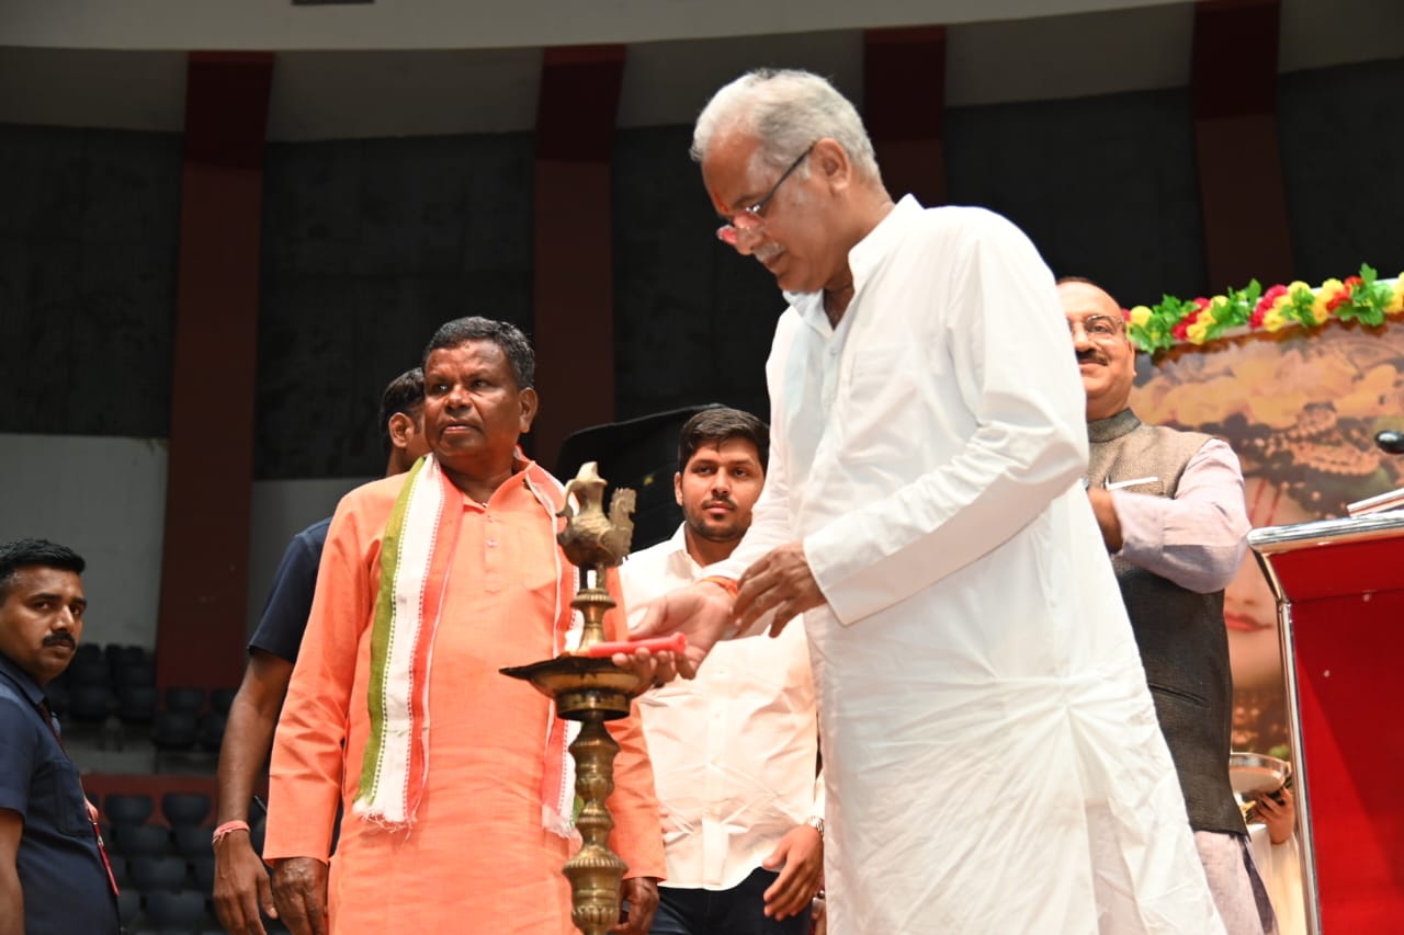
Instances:
[[[625,562],[625,602],[692,584],[731,555],[765,483],[769,431],[734,409],[682,427],[674,494],[684,522]],[[695,681],[639,699],[668,877],[651,935],[804,935],[823,869],[814,681],[800,626],[717,647]]]

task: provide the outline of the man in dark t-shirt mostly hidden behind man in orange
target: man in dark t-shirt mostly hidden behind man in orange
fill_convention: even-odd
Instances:
[[[409,470],[428,452],[424,439],[424,373],[395,378],[380,397],[385,475]],[[226,931],[263,932],[258,910],[275,915],[268,872],[249,835],[249,803],[268,762],[278,712],[312,611],[322,546],[331,518],[312,524],[288,543],[258,629],[249,640],[249,665],[229,709],[219,750],[219,803],[215,831],[215,911]]]

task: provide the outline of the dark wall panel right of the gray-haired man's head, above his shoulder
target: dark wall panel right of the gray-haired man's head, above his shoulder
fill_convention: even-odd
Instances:
[[[948,197],[1123,303],[1207,288],[1188,91],[946,111]]]

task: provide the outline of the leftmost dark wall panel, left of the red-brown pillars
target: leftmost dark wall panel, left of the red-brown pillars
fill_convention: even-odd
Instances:
[[[167,434],[180,146],[0,125],[0,432]]]

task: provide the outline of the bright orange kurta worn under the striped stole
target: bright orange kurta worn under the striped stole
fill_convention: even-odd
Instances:
[[[574,932],[560,866],[576,845],[542,827],[550,701],[497,670],[557,654],[560,576],[574,569],[552,519],[560,486],[536,465],[483,505],[463,496],[458,548],[435,636],[428,699],[428,778],[414,824],[388,831],[351,814],[369,734],[371,622],[380,536],[406,476],[358,487],[327,535],[307,633],[278,722],[264,855],[326,859],[338,802],[345,817],[331,859],[333,935],[361,932]],[[618,587],[611,580],[611,591]],[[609,639],[622,615],[607,615]],[[658,804],[637,719],[612,722],[611,847],[629,876],[664,876]],[[344,741],[344,755],[343,755]],[[338,799],[340,796],[340,799]]]

